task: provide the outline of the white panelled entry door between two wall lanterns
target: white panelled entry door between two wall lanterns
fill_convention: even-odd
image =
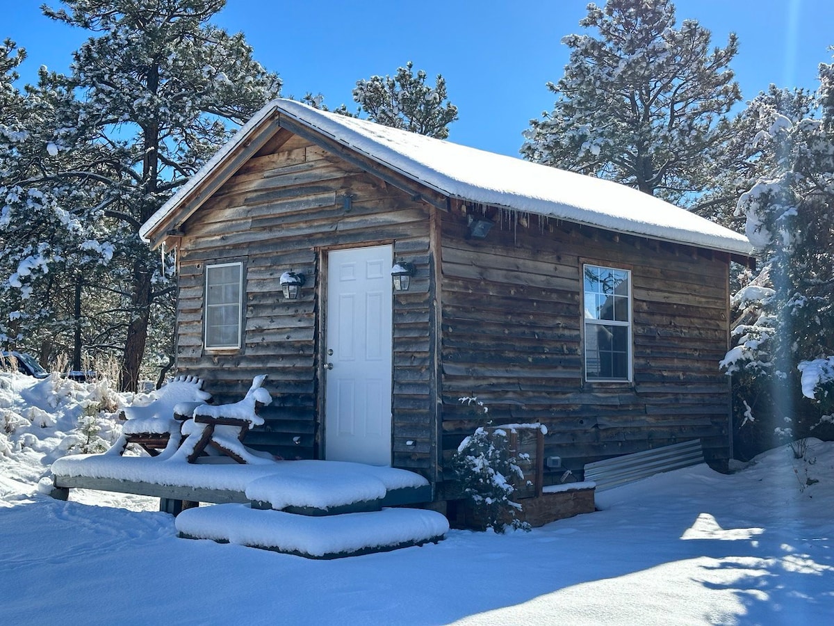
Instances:
[[[324,457],[391,464],[390,245],[328,257]]]

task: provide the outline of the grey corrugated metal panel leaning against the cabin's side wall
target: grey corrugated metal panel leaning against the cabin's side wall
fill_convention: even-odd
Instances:
[[[596,491],[602,492],[632,482],[670,472],[681,467],[691,467],[704,462],[701,440],[675,443],[646,452],[625,454],[585,465],[585,480],[596,483]]]

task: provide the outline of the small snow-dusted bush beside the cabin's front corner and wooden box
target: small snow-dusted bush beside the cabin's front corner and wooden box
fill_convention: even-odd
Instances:
[[[487,407],[477,397],[460,401],[486,415]],[[505,526],[530,530],[530,524],[515,515],[521,505],[512,499],[515,481],[524,480],[521,467],[529,459],[510,453],[509,431],[501,427],[479,427],[465,437],[452,457],[452,467],[467,497],[475,506],[477,517],[486,528],[503,533]]]

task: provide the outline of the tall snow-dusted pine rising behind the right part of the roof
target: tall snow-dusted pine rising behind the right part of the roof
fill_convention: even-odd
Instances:
[[[668,0],[591,3],[595,34],[562,39],[565,75],[553,111],[530,120],[521,153],[537,163],[613,179],[676,204],[709,187],[741,95],[728,68],[738,43],[710,49],[695,20],[676,28]]]

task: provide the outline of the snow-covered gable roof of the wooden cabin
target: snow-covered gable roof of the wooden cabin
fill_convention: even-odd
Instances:
[[[753,254],[746,236],[610,180],[391,129],[285,99],[267,103],[244,124],[142,225],[139,235],[148,239],[188,202],[193,204],[190,210],[196,210],[209,195],[201,193],[208,179],[228,167],[234,155],[252,144],[259,133],[274,132],[274,126],[269,130],[265,124],[276,118],[280,124],[282,116],[450,198],[737,255]],[[227,176],[232,174],[231,169],[226,172]]]

